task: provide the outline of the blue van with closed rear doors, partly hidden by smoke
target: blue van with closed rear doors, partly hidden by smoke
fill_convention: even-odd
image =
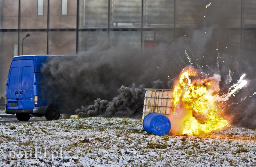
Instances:
[[[58,104],[48,102],[41,67],[52,55],[25,55],[13,57],[6,83],[5,113],[16,114],[19,121],[28,121],[31,115],[47,120],[60,117]]]

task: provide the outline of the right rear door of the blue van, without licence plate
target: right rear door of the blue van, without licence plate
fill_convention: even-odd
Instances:
[[[34,109],[34,62],[22,60],[20,66],[19,109]]]

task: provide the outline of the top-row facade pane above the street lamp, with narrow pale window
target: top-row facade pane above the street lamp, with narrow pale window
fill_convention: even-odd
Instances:
[[[20,5],[20,28],[47,28],[46,0],[21,0]]]

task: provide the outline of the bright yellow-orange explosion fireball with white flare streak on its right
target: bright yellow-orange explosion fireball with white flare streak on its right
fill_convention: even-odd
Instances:
[[[226,94],[219,95],[220,75],[209,77],[192,66],[183,69],[173,89],[170,115],[172,133],[198,135],[227,127],[225,103],[246,85],[244,76]]]

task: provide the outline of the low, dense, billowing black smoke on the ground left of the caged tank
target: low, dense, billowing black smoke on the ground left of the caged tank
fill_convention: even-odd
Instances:
[[[119,95],[113,98],[112,101],[101,100],[98,98],[94,104],[88,107],[82,106],[77,109],[76,113],[80,117],[102,116],[102,117],[133,117],[136,118],[141,115],[141,107],[144,102],[144,95],[146,91],[143,85],[138,88],[135,84],[131,87],[121,86]]]

